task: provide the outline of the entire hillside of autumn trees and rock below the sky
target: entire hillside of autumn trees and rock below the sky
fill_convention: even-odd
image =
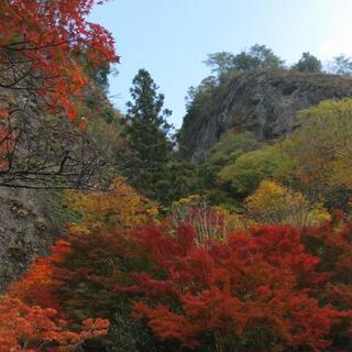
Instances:
[[[211,54],[175,133],[95,3],[0,0],[0,352],[350,352],[351,61]]]

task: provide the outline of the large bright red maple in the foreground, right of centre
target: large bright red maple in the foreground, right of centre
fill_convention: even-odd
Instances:
[[[134,315],[146,318],[160,339],[195,348],[206,334],[220,334],[255,351],[272,344],[324,351],[331,344],[330,328],[344,315],[312,297],[329,276],[316,271],[318,258],[306,252],[298,230],[262,227],[204,246],[195,237],[188,227],[174,238],[153,228],[135,235],[158,268],[132,275],[132,292],[144,296],[134,301]]]

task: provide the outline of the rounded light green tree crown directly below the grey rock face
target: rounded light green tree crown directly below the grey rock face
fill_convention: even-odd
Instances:
[[[286,179],[295,169],[293,160],[278,145],[245,153],[218,174],[220,184],[228,184],[237,194],[249,195],[264,179]]]

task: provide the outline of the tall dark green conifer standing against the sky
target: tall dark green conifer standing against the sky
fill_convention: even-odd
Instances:
[[[170,125],[166,118],[170,111],[163,109],[164,95],[148,72],[140,69],[130,89],[124,136],[127,148],[120,157],[124,161],[124,175],[144,196],[161,200],[166,166],[172,156],[173,143],[168,139]]]

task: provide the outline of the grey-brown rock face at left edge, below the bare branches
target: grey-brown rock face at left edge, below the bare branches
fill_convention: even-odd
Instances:
[[[53,218],[57,204],[47,191],[0,187],[0,293],[59,234]]]

